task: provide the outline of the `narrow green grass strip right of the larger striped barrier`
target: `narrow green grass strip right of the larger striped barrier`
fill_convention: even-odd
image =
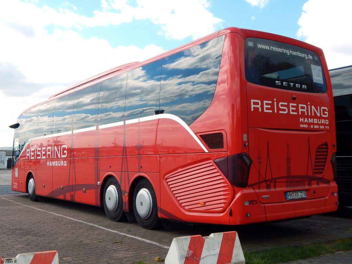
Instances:
[[[243,252],[246,264],[275,264],[298,259],[314,258],[339,251],[352,250],[352,238],[327,243]]]

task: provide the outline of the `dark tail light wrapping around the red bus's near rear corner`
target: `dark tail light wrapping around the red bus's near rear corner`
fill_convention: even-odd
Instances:
[[[252,164],[252,160],[247,153],[215,159],[214,162],[232,185],[240,188],[247,187],[249,170]]]

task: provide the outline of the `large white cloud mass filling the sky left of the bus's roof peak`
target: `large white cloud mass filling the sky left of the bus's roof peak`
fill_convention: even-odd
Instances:
[[[91,16],[76,13],[77,7],[39,7],[35,0],[1,3],[0,104],[11,109],[2,118],[0,146],[12,145],[16,122],[26,108],[50,95],[107,69],[161,54],[154,44],[112,47],[107,40],[83,37],[81,29],[118,26],[132,20],[150,20],[166,38],[196,39],[216,31],[222,20],[208,11],[208,0],[101,0],[101,10]],[[185,8],[187,6],[187,8]],[[49,30],[50,29],[50,30]]]

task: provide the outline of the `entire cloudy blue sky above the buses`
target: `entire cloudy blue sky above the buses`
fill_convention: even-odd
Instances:
[[[26,108],[118,65],[230,26],[300,39],[328,67],[352,63],[347,0],[11,0],[0,2],[0,146]]]

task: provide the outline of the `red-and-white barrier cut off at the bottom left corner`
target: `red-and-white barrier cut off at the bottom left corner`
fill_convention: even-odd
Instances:
[[[58,264],[59,254],[56,250],[21,253],[15,258],[4,258],[4,263],[17,263],[17,264]]]

